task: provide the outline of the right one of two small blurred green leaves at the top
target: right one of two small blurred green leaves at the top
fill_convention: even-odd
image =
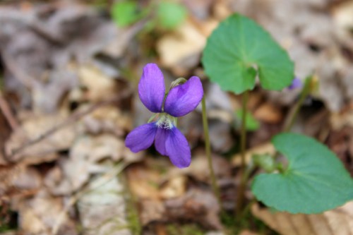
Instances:
[[[162,1],[157,8],[157,22],[160,27],[172,30],[183,23],[187,11],[181,4]]]

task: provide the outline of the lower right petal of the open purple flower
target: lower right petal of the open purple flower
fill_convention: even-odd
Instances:
[[[191,150],[185,136],[174,127],[167,130],[169,135],[165,141],[167,155],[174,166],[179,168],[189,167],[191,163]]]

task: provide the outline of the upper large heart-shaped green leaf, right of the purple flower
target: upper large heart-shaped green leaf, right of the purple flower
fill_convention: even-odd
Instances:
[[[239,14],[208,37],[202,63],[210,80],[236,94],[253,89],[256,76],[267,90],[282,90],[294,78],[287,52],[260,25]]]

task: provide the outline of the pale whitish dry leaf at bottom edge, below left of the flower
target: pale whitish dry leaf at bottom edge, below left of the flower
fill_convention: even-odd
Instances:
[[[131,235],[126,219],[126,188],[121,179],[97,176],[78,200],[85,235]]]

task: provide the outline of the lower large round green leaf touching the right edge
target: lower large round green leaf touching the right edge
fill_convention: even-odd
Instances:
[[[283,173],[259,174],[253,180],[251,190],[265,205],[314,214],[353,199],[353,181],[328,147],[294,133],[276,135],[273,145],[289,164]]]

